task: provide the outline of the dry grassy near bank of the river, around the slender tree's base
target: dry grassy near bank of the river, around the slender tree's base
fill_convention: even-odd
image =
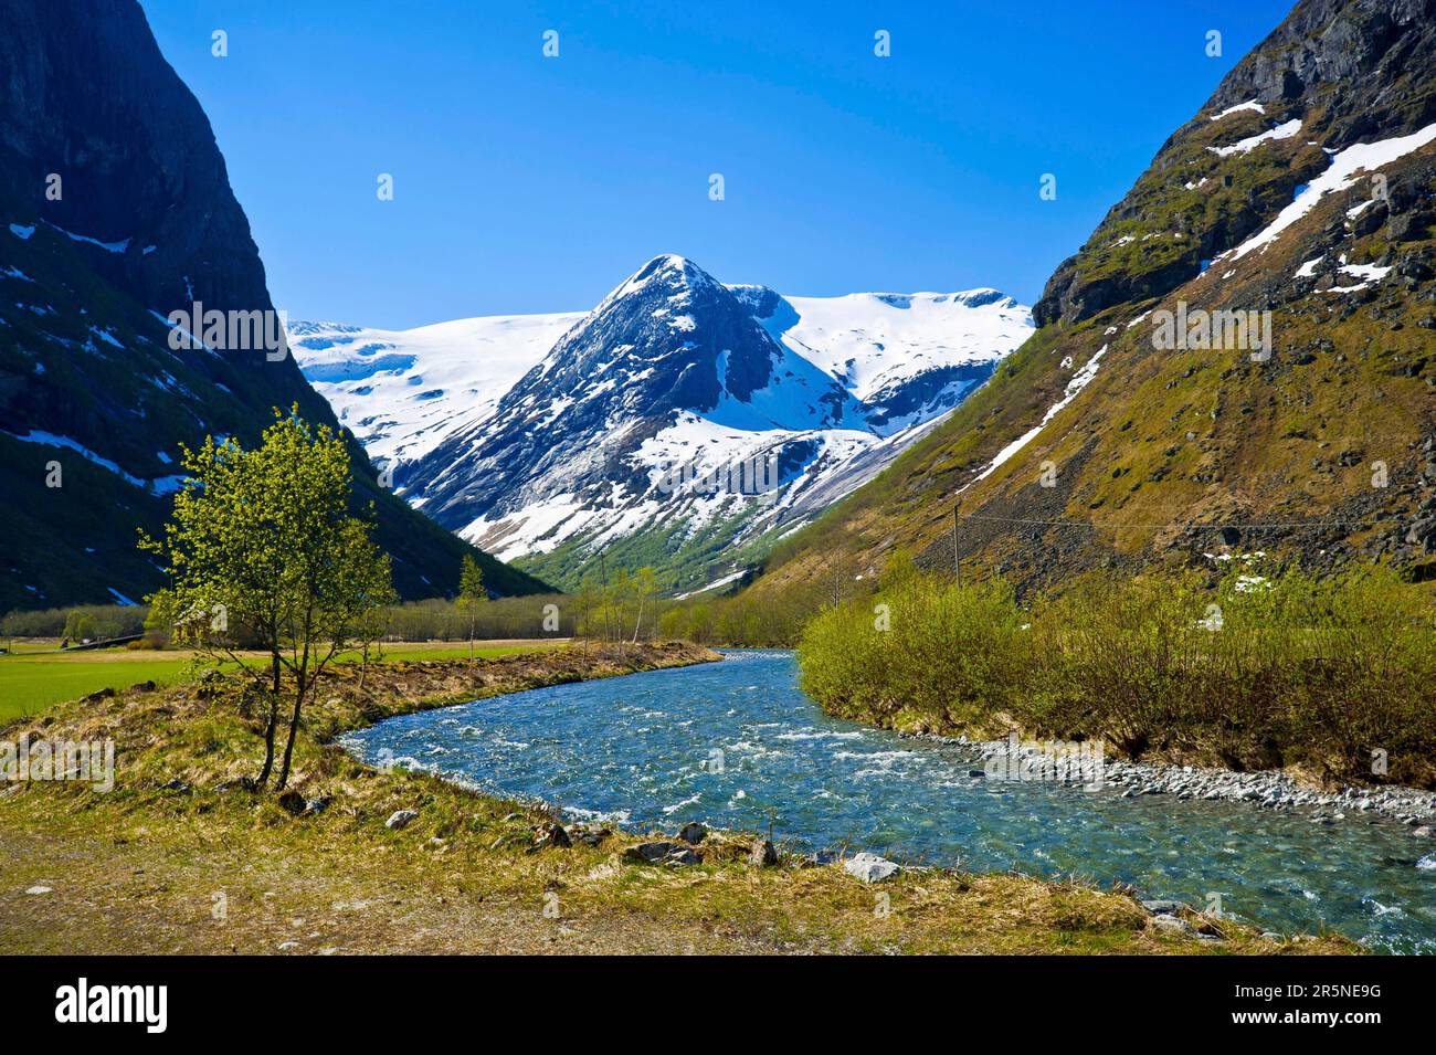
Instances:
[[[342,667],[302,729],[286,797],[243,788],[258,758],[257,721],[233,680],[136,688],[11,723],[0,736],[113,741],[116,779],[109,792],[73,781],[0,791],[0,944],[32,953],[1357,950],[1335,936],[1264,939],[1185,910],[1157,916],[1129,893],[1074,881],[903,870],[869,886],[798,855],[754,860],[754,837],[724,833],[651,863],[645,844],[678,840],[559,825],[514,800],[363,765],[333,744],[343,731],[455,699],[711,656],[640,646],[395,663],[370,667],[362,689],[358,670]]]

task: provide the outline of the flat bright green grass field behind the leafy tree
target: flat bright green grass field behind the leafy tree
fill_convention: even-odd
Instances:
[[[22,644],[17,642],[17,644]],[[484,659],[554,647],[556,642],[482,642],[474,655]],[[254,653],[257,657],[257,653]],[[419,642],[391,644],[383,650],[386,660],[452,659],[468,655],[468,642]],[[358,653],[345,653],[358,659]],[[208,665],[208,663],[207,663]],[[105,652],[29,653],[0,656],[0,723],[11,718],[33,715],[45,708],[99,689],[126,689],[139,682],[174,685],[195,672],[194,653],[171,652]]]

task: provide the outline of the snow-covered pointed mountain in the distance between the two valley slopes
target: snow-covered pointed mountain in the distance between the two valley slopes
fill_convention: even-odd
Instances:
[[[290,343],[439,524],[563,586],[603,547],[689,589],[876,475],[1031,326],[995,290],[783,297],[662,255],[586,316]]]

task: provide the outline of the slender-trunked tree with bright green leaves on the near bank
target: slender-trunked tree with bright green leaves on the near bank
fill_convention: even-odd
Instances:
[[[369,524],[349,515],[349,452],[329,426],[314,429],[276,409],[260,446],[205,436],[181,446],[188,474],[161,540],[141,533],[171,587],[151,599],[175,627],[175,640],[260,673],[238,642],[267,657],[264,787],[274,769],[281,675],[293,679],[289,735],[276,789],[289,782],[304,700],[325,667],[379,603],[388,558]]]

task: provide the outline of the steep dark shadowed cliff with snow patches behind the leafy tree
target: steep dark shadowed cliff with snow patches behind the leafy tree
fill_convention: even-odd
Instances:
[[[317,422],[333,415],[281,346],[171,344],[167,316],[195,301],[260,316],[273,304],[210,123],[139,4],[0,0],[0,507],[11,543],[0,610],[138,600],[161,581],[135,528],[164,517],[180,442],[253,441],[290,403]],[[452,590],[465,547],[379,491],[358,445],[355,459],[401,590]],[[490,566],[498,589],[536,586]]]

